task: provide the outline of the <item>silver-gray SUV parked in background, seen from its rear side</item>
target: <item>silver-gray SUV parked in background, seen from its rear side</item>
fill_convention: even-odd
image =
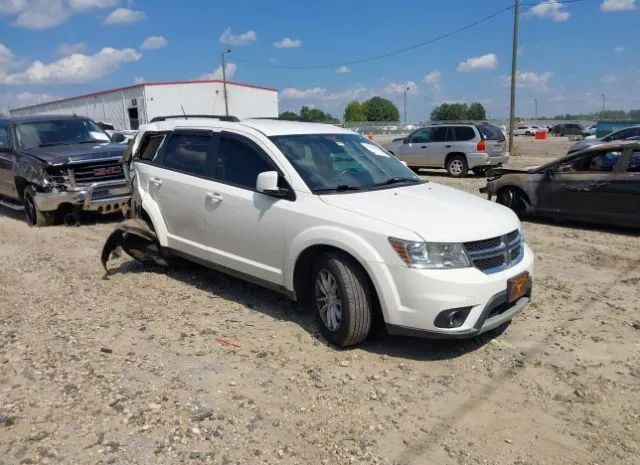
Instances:
[[[411,168],[444,168],[451,176],[483,174],[509,160],[502,131],[486,123],[433,124],[385,148]]]

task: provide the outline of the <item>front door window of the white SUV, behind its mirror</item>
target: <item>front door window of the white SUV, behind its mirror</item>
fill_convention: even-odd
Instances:
[[[258,174],[273,170],[273,166],[249,143],[235,137],[220,137],[216,179],[255,189]]]

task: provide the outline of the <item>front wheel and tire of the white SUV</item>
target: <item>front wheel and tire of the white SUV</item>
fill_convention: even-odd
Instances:
[[[372,299],[360,265],[344,253],[326,253],[311,277],[311,307],[323,336],[338,347],[364,341],[371,329]]]

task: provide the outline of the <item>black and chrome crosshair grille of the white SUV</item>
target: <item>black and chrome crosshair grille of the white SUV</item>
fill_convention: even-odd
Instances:
[[[517,229],[502,236],[465,242],[463,245],[473,265],[485,273],[510,268],[523,255],[522,234]]]

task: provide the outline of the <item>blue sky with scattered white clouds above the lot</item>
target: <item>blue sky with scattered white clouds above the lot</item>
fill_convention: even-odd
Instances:
[[[602,95],[607,109],[640,108],[639,2],[561,1],[522,0],[516,113],[531,118],[536,100],[538,115],[596,112]],[[409,121],[455,101],[504,118],[513,3],[0,0],[0,112],[137,82],[219,79],[231,49],[228,79],[278,89],[281,111],[341,117],[349,101],[380,95],[402,114],[408,88]]]

